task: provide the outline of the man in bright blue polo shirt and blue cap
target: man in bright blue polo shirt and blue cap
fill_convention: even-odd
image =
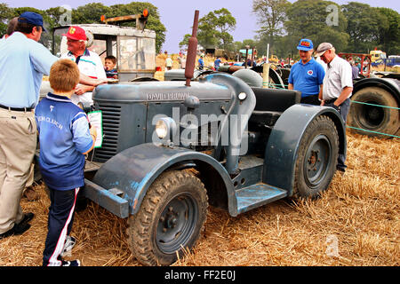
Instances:
[[[301,91],[300,103],[319,106],[325,76],[324,67],[312,58],[314,45],[311,40],[301,39],[297,49],[300,61],[292,66],[288,89]]]

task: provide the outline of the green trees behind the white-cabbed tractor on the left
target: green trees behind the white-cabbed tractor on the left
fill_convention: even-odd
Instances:
[[[65,7],[53,7],[47,10],[38,10],[32,7],[11,8],[7,4],[0,4],[0,35],[5,34],[7,23],[13,17],[19,16],[22,12],[30,11],[41,14],[44,18],[44,25],[46,30],[51,31],[52,28],[59,27],[70,21],[70,24],[95,24],[101,23],[101,15],[106,18],[117,16],[134,15],[148,9],[148,23],[146,28],[156,31],[156,51],[159,52],[163,43],[165,42],[166,28],[160,20],[158,8],[149,3],[132,2],[130,4],[115,4],[106,6],[101,3],[91,3],[79,6],[76,9],[67,11]],[[70,15],[70,19],[68,18]],[[124,27],[134,27],[133,22],[122,23]],[[44,33],[41,42],[45,46],[50,47],[51,33]]]

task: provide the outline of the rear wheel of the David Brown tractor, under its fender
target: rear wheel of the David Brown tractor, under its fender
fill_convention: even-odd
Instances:
[[[308,125],[300,140],[293,197],[318,197],[331,184],[339,154],[335,123],[321,115]]]

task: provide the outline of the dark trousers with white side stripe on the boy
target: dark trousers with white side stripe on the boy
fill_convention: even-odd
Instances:
[[[50,209],[47,237],[44,244],[43,265],[60,266],[60,253],[74,221],[76,196],[79,187],[70,190],[50,190]]]

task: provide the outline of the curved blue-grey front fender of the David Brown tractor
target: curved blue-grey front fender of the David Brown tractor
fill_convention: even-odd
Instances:
[[[133,146],[104,163],[93,177],[93,182],[106,189],[115,187],[119,182],[118,189],[124,192],[124,199],[129,201],[130,213],[135,214],[156,177],[172,165],[186,161],[205,162],[218,172],[228,192],[229,211],[232,209],[235,212],[237,202],[227,170],[211,156],[186,148],[156,146],[152,143]]]

